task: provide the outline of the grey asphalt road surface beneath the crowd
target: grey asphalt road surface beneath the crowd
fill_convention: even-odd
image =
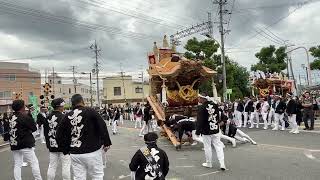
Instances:
[[[143,145],[138,130],[126,121],[120,134],[111,135],[112,148],[107,153],[108,163],[104,179],[130,179],[128,163],[133,154]],[[167,179],[190,180],[319,180],[320,179],[320,133],[302,132],[299,135],[283,131],[244,129],[258,145],[238,144],[232,148],[227,144],[225,160],[227,171],[221,172],[217,162],[212,169],[201,167],[204,162],[202,145],[183,146],[176,151],[166,138],[160,138],[159,147],[164,149],[170,160]],[[37,143],[43,179],[46,179],[48,151],[44,144]],[[32,180],[31,168],[24,167],[24,180]],[[61,179],[61,170],[56,176]],[[0,149],[0,179],[13,177],[12,154],[8,148]]]

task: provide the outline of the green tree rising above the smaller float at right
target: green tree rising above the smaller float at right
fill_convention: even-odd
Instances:
[[[263,47],[255,56],[259,59],[259,62],[251,66],[252,71],[260,70],[263,72],[280,73],[287,68],[285,47],[279,47],[278,49],[273,45]]]

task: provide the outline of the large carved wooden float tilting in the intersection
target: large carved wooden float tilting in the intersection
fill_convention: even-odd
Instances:
[[[177,148],[180,143],[164,122],[172,114],[183,114],[186,109],[196,115],[199,85],[211,79],[215,71],[202,66],[201,61],[186,59],[174,47],[169,47],[166,36],[163,47],[154,43],[148,55],[151,92],[147,97],[164,135]]]

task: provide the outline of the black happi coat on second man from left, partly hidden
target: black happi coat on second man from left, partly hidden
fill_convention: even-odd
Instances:
[[[56,140],[56,132],[63,118],[64,115],[60,111],[52,111],[43,123],[46,145],[50,152],[61,152]]]

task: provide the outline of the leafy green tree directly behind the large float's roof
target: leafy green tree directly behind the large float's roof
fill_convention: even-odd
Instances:
[[[185,57],[188,59],[200,59],[203,65],[217,71],[214,77],[219,96],[222,96],[222,64],[221,56],[215,54],[219,45],[214,40],[198,41],[192,38],[187,41],[185,45]],[[201,53],[202,52],[202,53]],[[246,68],[240,66],[233,60],[226,58],[226,71],[227,71],[227,86],[233,90],[231,99],[244,97],[250,94],[248,88],[249,73]],[[200,92],[205,92],[212,95],[212,79],[203,82],[199,87]]]

